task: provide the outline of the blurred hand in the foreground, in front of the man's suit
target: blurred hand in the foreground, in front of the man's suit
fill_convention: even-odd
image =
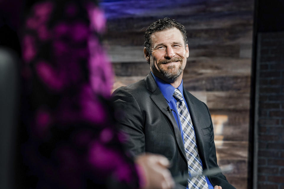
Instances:
[[[135,159],[144,172],[143,189],[170,189],[175,187],[175,182],[170,171],[167,169],[170,166],[169,160],[161,155],[143,154]]]

